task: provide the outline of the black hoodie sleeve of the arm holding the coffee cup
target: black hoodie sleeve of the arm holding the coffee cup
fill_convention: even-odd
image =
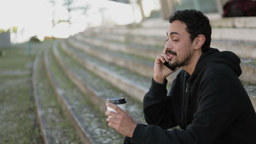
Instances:
[[[236,81],[217,74],[202,83],[199,107],[194,119],[185,130],[165,130],[161,127],[137,125],[133,136],[133,144],[147,143],[213,143],[214,139],[229,127],[239,113],[237,95],[242,94]],[[162,96],[163,97],[163,96]],[[158,117],[158,116],[156,116]],[[162,118],[162,117],[161,117]]]

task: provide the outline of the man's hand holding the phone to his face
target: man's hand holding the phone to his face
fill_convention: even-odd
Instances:
[[[171,75],[174,71],[179,69],[177,67],[174,71],[170,70],[167,68],[164,63],[168,62],[169,60],[167,59],[166,53],[161,53],[160,56],[158,56],[155,59],[155,65],[154,65],[154,77],[153,80],[157,83],[164,83],[166,77],[168,75]]]

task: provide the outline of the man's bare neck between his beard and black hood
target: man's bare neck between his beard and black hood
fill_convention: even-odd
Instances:
[[[196,66],[197,62],[199,61],[199,58],[201,57],[201,55],[202,55],[201,50],[200,50],[200,52],[195,51],[194,56],[191,57],[191,59],[190,59],[190,62],[187,65],[184,65],[182,67],[185,71],[187,71],[187,73],[189,75],[193,74],[193,72],[195,70],[195,66]]]

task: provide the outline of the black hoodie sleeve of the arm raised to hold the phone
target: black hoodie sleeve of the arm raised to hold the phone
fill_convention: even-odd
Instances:
[[[170,97],[166,97],[166,85],[167,80],[160,84],[152,79],[149,92],[143,99],[143,111],[146,122],[150,125],[158,125],[164,129],[177,125],[173,118],[172,100]]]

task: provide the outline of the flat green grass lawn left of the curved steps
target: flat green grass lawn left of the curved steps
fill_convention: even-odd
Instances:
[[[47,46],[47,42],[44,43]],[[42,44],[1,49],[0,56],[0,143],[43,143],[40,139],[32,91],[32,64]]]

